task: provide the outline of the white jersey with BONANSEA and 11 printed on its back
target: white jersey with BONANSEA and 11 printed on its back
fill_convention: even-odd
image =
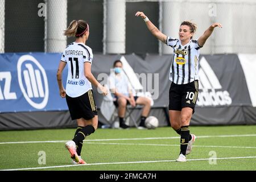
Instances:
[[[84,43],[69,44],[61,57],[68,64],[66,93],[69,97],[79,97],[92,89],[92,84],[84,75],[84,63],[92,63],[92,49]]]

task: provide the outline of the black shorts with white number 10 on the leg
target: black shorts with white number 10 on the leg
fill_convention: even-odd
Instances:
[[[194,113],[197,96],[198,80],[183,85],[172,82],[169,90],[169,110],[181,111],[184,107],[190,107]]]

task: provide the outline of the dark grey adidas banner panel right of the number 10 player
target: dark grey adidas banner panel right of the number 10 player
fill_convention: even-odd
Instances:
[[[201,56],[197,106],[251,105],[245,75],[237,55]]]

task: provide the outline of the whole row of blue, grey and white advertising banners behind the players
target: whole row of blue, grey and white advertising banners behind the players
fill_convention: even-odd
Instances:
[[[73,126],[56,81],[60,53],[0,54],[0,130]],[[168,79],[172,55],[94,55],[92,73],[106,84],[120,59],[134,93],[151,99],[151,113],[168,125]],[[256,55],[201,55],[199,95],[191,125],[256,123]],[[67,67],[63,72],[63,84]],[[103,96],[94,89],[99,108]],[[134,111],[134,117],[139,117]],[[109,123],[98,111],[99,120]]]

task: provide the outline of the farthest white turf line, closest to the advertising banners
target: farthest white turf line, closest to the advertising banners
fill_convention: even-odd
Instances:
[[[256,134],[246,135],[205,135],[196,136],[197,138],[217,138],[217,137],[256,137]],[[179,139],[180,137],[154,137],[154,138],[116,138],[116,139],[86,139],[87,142],[96,141],[117,141],[117,140],[155,140],[155,139]],[[53,140],[53,141],[27,141],[27,142],[1,142],[0,144],[18,144],[18,143],[64,143],[67,140]]]

